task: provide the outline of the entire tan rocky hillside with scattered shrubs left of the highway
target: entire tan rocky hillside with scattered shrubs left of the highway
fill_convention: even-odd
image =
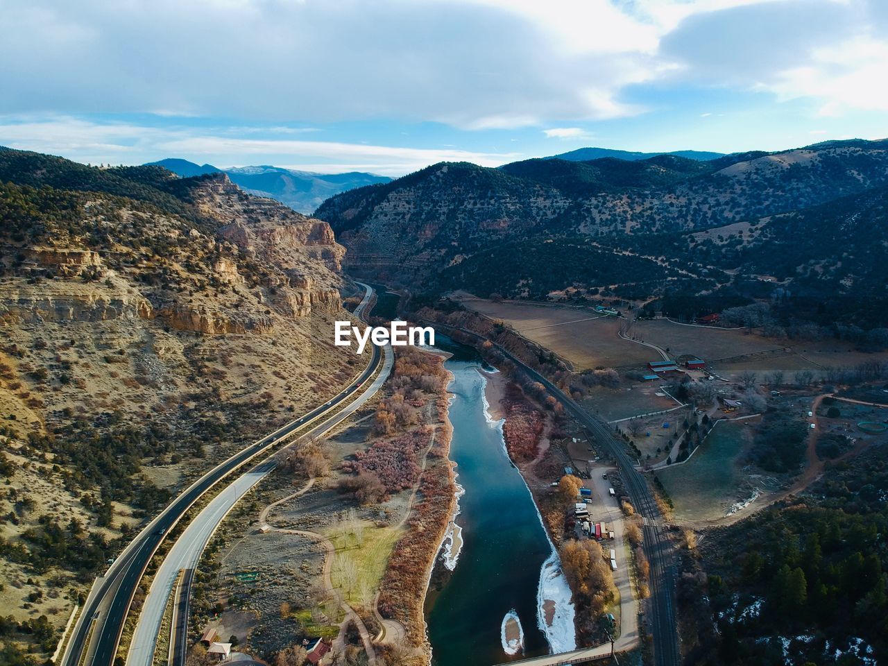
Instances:
[[[41,654],[118,539],[360,359],[326,223],[224,174],[0,149],[0,183],[0,604]]]

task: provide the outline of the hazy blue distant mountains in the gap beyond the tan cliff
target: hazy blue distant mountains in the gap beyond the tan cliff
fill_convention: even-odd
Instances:
[[[178,158],[167,158],[149,165],[162,166],[182,178],[222,171],[244,191],[275,199],[302,213],[311,212],[334,194],[354,187],[387,183],[392,179],[361,171],[324,174],[268,165],[218,169],[211,164],[199,166]]]

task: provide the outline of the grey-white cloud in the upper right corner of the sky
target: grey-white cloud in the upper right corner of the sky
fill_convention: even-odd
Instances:
[[[679,65],[674,80],[769,92],[778,102],[810,99],[821,115],[888,110],[888,91],[874,84],[888,71],[884,3],[734,5],[691,14],[663,36],[662,57]]]

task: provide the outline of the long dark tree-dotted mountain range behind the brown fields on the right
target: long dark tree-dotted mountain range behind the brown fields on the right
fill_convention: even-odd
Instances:
[[[884,297],[886,186],[888,140],[853,140],[708,162],[441,163],[338,194],[315,216],[348,248],[349,270],[429,294],[579,289],[646,301],[733,289],[737,300],[738,289],[760,297],[777,279],[821,304],[850,303]]]

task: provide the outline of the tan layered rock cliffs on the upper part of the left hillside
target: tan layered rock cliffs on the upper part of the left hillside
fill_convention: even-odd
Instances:
[[[345,249],[326,222],[244,194],[222,173],[180,187],[197,225],[136,202],[79,194],[71,214],[80,233],[57,228],[8,242],[11,289],[0,296],[0,321],[131,316],[207,335],[263,335],[279,317],[339,311]],[[52,282],[29,287],[46,278]]]

